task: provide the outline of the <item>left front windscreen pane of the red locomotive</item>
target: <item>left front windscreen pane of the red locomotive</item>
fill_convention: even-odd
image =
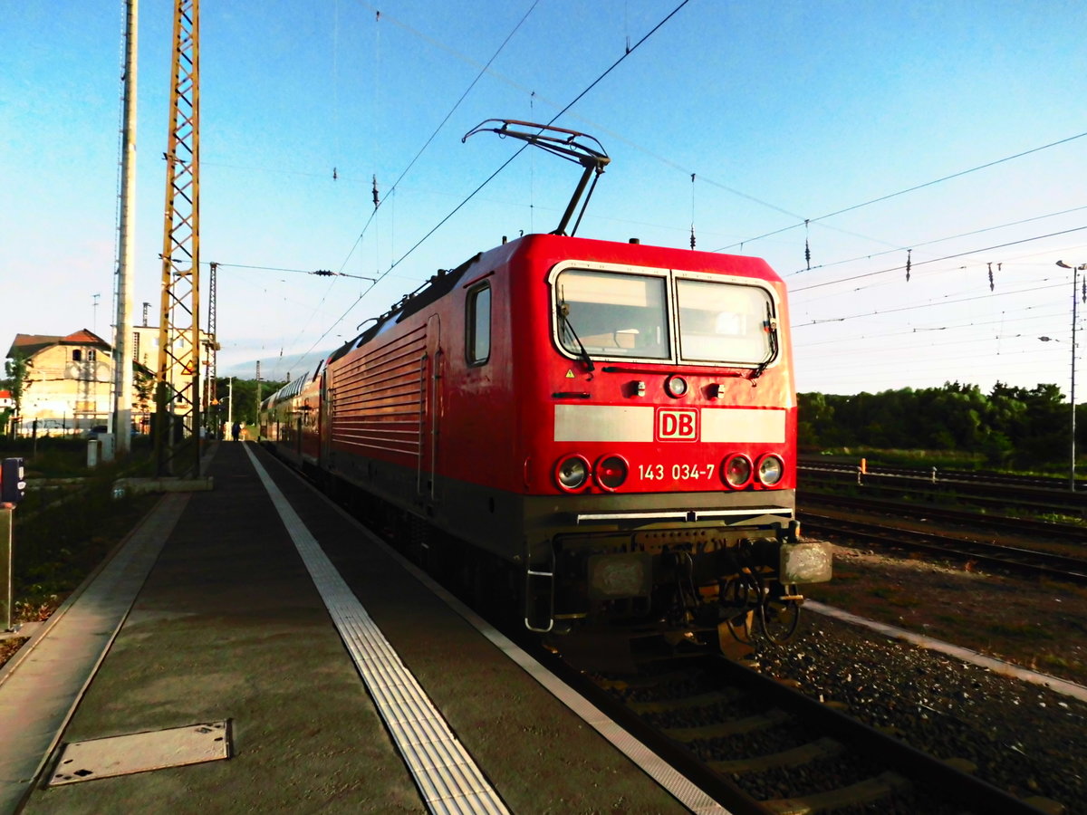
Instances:
[[[665,279],[567,269],[555,279],[559,341],[572,354],[666,360]]]

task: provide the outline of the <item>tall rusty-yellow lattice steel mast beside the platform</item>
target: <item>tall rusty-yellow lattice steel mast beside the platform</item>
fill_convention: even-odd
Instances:
[[[155,387],[159,475],[200,475],[200,21],[175,0]]]

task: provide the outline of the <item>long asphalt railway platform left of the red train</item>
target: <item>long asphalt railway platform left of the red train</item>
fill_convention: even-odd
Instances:
[[[724,812],[257,444],[209,459],[0,669],[0,815]]]

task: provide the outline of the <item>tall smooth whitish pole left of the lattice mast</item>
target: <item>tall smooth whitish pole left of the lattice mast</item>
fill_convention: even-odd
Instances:
[[[136,41],[139,0],[125,2],[125,74],[121,137],[121,223],[118,226],[117,302],[113,335],[113,441],[117,455],[132,448],[133,296],[136,203]]]

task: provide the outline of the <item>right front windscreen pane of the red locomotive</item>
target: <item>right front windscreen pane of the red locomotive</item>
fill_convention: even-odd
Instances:
[[[757,286],[676,280],[679,354],[697,362],[761,365],[772,360],[770,294]]]

